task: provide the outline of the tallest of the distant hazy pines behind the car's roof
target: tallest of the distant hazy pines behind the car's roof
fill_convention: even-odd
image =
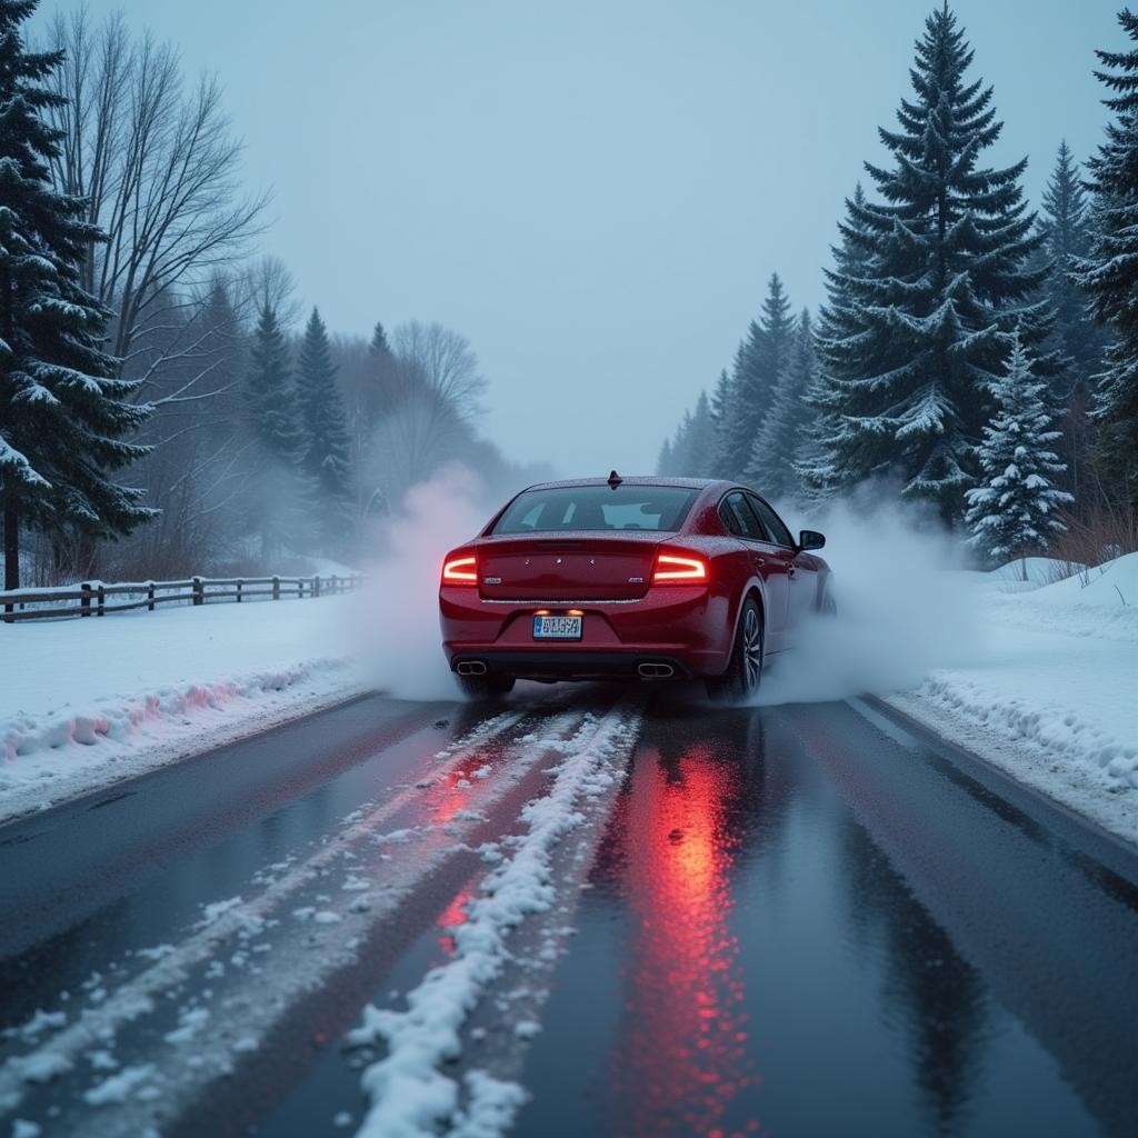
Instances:
[[[719,419],[717,465],[723,477],[742,478],[751,470],[754,439],[766,421],[793,338],[790,299],[778,274],[772,273],[759,319],[751,321],[735,353],[727,413]]]

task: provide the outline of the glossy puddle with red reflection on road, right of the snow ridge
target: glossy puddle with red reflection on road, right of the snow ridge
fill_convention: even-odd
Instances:
[[[888,767],[885,783],[860,787],[875,810],[850,808],[848,789],[795,731],[802,716],[823,723],[847,765]],[[876,753],[859,752],[863,741]],[[992,876],[991,859],[1007,860],[1001,844],[1029,839],[967,795],[922,801],[933,784],[900,786],[904,764],[914,770],[909,752],[883,752],[881,736],[842,706],[658,721],[554,975],[523,1074],[534,1098],[516,1133],[1124,1132],[1135,1118],[1127,1040],[1138,1021],[1128,1029],[1128,1013],[1110,1001],[1113,990],[1133,1006],[1135,973],[1088,943],[1096,968],[1113,971],[1087,999],[1045,1014],[1039,978],[1019,983],[986,966],[984,938],[1001,941],[1006,907],[980,884],[975,914],[930,907],[917,891],[927,882],[875,824],[902,802],[918,818],[935,808]],[[1053,871],[1038,850],[1030,856],[1036,880],[1023,885],[1033,890]],[[1090,910],[1112,904],[1083,893]],[[1033,901],[1070,920],[1063,884]],[[1119,914],[1104,913],[1087,938],[1110,948]],[[1133,943],[1138,929],[1130,932]],[[1062,954],[1052,962],[1052,990],[1066,980],[1065,963]],[[1082,1049],[1063,1031],[1081,1034]]]

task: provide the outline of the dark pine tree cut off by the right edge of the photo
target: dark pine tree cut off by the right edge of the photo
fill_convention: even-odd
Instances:
[[[1138,15],[1119,23],[1138,41]],[[1104,473],[1138,506],[1138,49],[1098,51],[1098,79],[1114,92],[1104,104],[1118,117],[1087,160],[1092,195],[1091,240],[1075,279],[1095,315],[1115,335],[1097,380],[1094,417]]]

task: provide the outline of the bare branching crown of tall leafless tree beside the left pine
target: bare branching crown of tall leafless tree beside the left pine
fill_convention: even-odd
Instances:
[[[58,15],[49,40],[65,52],[52,179],[88,199],[107,236],[89,249],[86,284],[117,314],[112,351],[130,361],[187,291],[248,251],[267,197],[241,189],[242,145],[216,79],[187,92],[173,47],[132,41],[122,16],[92,26],[85,9]]]

